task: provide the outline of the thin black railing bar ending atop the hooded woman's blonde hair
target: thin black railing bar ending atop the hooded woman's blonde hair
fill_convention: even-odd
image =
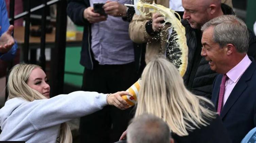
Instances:
[[[29,33],[30,33],[30,0],[26,2],[28,15],[25,16],[25,35],[24,35],[24,47],[23,47],[23,62],[29,62]]]

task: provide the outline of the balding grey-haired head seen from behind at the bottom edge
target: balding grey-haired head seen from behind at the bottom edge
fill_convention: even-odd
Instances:
[[[170,143],[170,138],[168,125],[150,114],[134,118],[127,128],[128,143]]]

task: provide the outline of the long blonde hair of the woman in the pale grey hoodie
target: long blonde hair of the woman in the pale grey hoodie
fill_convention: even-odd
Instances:
[[[44,95],[27,85],[29,75],[35,68],[41,68],[37,65],[31,64],[18,64],[14,66],[9,74],[7,82],[8,99],[21,97],[27,101],[34,101],[40,99],[47,99]],[[72,135],[67,123],[61,124],[60,129],[60,142],[72,143]]]

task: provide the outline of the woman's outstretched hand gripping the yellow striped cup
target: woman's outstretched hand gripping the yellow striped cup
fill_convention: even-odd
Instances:
[[[114,105],[117,108],[124,110],[129,108],[129,104],[121,97],[122,95],[131,95],[129,92],[120,91],[114,94],[111,94],[107,98],[107,102],[109,105]]]

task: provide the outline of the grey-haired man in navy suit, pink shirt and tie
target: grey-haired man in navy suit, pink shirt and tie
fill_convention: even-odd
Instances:
[[[219,75],[212,102],[233,142],[241,142],[256,126],[256,63],[246,53],[249,33],[245,23],[225,15],[202,26],[201,55]]]

